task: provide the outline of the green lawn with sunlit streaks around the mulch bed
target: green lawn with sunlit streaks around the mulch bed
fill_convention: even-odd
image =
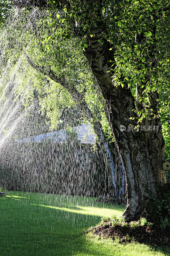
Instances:
[[[123,211],[123,206],[96,203],[91,197],[9,191],[0,198],[0,256],[169,255],[160,248],[85,235],[101,217]]]

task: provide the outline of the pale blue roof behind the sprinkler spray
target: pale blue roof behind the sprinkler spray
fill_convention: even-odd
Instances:
[[[96,134],[92,129],[91,124],[84,124],[76,127],[72,127],[71,130],[78,134],[78,140],[80,143],[93,144],[95,143]],[[24,138],[17,140],[18,142],[67,142],[67,130],[59,130],[55,132],[48,132],[44,134],[39,134],[29,138]]]

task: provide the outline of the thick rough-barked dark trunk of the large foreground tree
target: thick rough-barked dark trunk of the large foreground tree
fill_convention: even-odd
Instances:
[[[88,47],[85,49],[85,56],[89,61],[92,72],[98,80],[101,92],[106,101],[108,110],[108,122],[113,131],[117,149],[122,158],[126,176],[127,207],[124,212],[126,220],[137,220],[140,216],[147,217],[152,210],[148,208],[148,189],[156,196],[158,185],[165,183],[162,179],[165,173],[161,165],[164,154],[164,140],[159,122],[159,133],[151,132],[150,141],[154,137],[154,143],[148,147],[146,136],[143,131],[136,132],[128,130],[129,125],[136,125],[130,117],[137,117],[133,112],[135,109],[134,97],[123,81],[122,86],[115,87],[112,77],[107,73],[109,60],[115,61],[108,51],[110,45],[100,44],[98,36],[90,36]],[[123,78],[122,78],[123,79]],[[126,130],[121,131],[124,125]],[[157,147],[157,148],[155,148]],[[159,152],[161,157],[159,157]],[[155,162],[155,159],[158,161]]]

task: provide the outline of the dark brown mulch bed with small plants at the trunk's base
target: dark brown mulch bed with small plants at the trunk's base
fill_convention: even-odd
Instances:
[[[107,222],[105,223],[105,225]],[[112,227],[112,225],[97,226],[88,230],[87,233],[92,232],[95,236],[103,236],[104,238],[119,238],[120,243],[130,243],[132,241],[167,247],[170,244],[170,228],[162,230],[159,226],[152,226],[152,228],[138,226],[135,228],[122,227],[122,225],[117,225]]]

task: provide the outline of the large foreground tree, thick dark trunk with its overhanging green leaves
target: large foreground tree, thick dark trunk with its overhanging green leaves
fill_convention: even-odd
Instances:
[[[156,188],[166,183],[159,93],[169,93],[169,1],[12,2],[46,10],[56,22],[54,41],[57,36],[81,41],[125,170],[124,217],[137,220],[152,214],[149,191],[157,196]]]

